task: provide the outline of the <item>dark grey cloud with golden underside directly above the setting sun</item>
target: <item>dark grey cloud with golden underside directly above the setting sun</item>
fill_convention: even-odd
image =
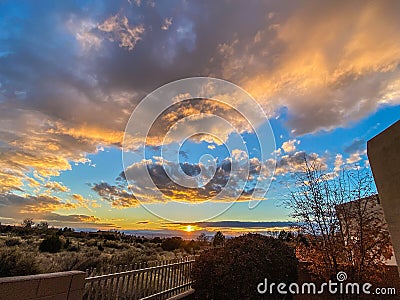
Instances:
[[[248,158],[243,152],[235,149],[232,158],[214,162],[176,163],[166,159],[143,160],[133,163],[121,173],[120,178],[127,178],[125,186],[130,187],[133,194],[145,203],[163,201],[203,202],[211,200],[248,201],[253,193],[262,193],[264,186],[256,183],[268,181],[271,166],[261,168],[258,158]],[[247,174],[248,164],[248,174]],[[234,170],[234,172],[233,172]],[[150,175],[150,182],[148,175]],[[116,186],[104,184],[102,190],[114,191]],[[96,189],[97,191],[97,189]],[[161,192],[165,197],[160,197]],[[265,194],[266,190],[263,194]],[[118,194],[118,192],[111,192]]]

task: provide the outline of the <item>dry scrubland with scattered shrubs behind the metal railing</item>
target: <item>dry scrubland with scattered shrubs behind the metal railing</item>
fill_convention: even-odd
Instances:
[[[120,232],[74,232],[46,224],[0,225],[0,277],[107,269],[180,258],[209,247],[180,237],[145,238]]]

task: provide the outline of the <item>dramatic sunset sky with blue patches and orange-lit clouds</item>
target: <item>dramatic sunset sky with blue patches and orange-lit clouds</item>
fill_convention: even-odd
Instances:
[[[285,183],[304,156],[369,169],[366,142],[399,119],[398,11],[1,1],[0,222],[193,236],[289,226]],[[219,81],[148,97],[193,77]]]

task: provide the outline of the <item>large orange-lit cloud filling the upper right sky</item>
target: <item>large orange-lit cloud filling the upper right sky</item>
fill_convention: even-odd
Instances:
[[[296,135],[346,126],[400,103],[398,2],[280,1],[270,8],[274,16],[252,28],[253,40],[250,31],[237,35],[214,61],[267,111],[286,107]]]

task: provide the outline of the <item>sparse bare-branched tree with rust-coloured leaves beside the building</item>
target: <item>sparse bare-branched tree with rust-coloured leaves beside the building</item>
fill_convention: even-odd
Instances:
[[[303,234],[298,257],[311,262],[319,278],[344,270],[353,280],[378,280],[392,250],[370,171],[354,166],[329,172],[305,157],[295,176],[285,204]]]

